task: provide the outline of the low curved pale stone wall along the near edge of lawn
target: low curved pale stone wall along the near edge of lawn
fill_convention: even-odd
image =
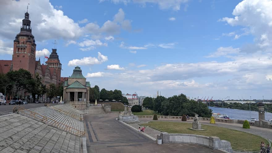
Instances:
[[[169,134],[167,132],[162,132],[160,135],[157,135],[157,139],[162,139],[162,143],[197,144],[211,149],[221,149],[232,153],[231,143],[220,140],[218,137],[207,137],[194,134]]]

